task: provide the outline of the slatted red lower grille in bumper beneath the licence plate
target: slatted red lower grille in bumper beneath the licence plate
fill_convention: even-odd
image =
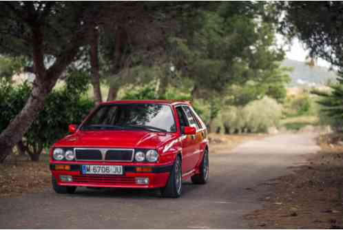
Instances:
[[[136,180],[134,177],[127,176],[72,176],[73,182],[83,182],[87,184],[125,184],[135,185]]]

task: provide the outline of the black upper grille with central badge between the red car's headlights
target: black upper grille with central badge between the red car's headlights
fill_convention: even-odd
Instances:
[[[132,162],[134,149],[75,149],[76,160]]]

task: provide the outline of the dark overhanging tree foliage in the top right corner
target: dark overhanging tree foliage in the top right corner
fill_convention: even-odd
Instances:
[[[284,12],[280,32],[304,42],[312,58],[322,58],[343,68],[342,1],[278,3]]]

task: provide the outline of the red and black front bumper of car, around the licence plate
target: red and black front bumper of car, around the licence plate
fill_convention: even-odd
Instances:
[[[96,163],[93,163],[97,165]],[[70,165],[70,170],[56,170],[56,165]],[[149,172],[137,172],[137,167],[147,167],[146,165],[123,165],[124,174],[121,176],[107,175],[84,175],[81,172],[83,164],[50,164],[52,176],[60,186],[77,187],[114,187],[114,188],[143,188],[153,189],[165,187],[169,178],[172,165],[148,166],[152,169]],[[89,164],[87,164],[89,165]],[[71,182],[61,181],[60,176],[72,176]],[[138,184],[136,178],[148,178],[147,185]]]

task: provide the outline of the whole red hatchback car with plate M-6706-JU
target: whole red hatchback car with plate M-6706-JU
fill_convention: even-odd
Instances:
[[[186,101],[101,103],[50,149],[52,187],[160,189],[177,198],[182,181],[209,178],[207,129]]]

